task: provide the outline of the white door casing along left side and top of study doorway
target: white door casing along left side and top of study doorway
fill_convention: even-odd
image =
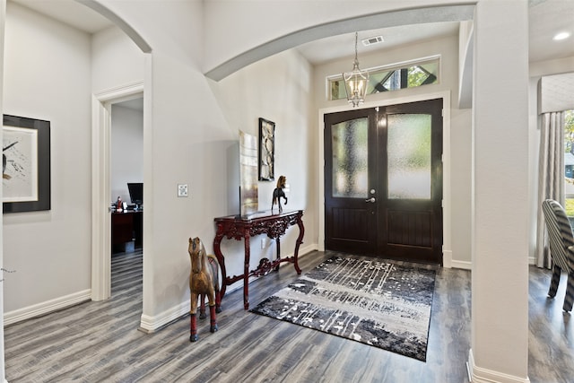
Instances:
[[[112,103],[143,97],[143,82],[100,91],[91,101],[91,299],[111,296],[111,217],[109,202]]]

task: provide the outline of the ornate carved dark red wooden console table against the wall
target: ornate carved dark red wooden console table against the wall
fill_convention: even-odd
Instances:
[[[303,235],[305,234],[303,221],[301,221],[302,216],[302,210],[295,210],[283,213],[256,213],[251,214],[248,217],[230,215],[227,217],[215,218],[214,221],[217,225],[217,232],[215,233],[215,239],[213,239],[213,252],[215,253],[215,257],[217,257],[219,265],[222,268],[222,289],[220,292],[221,298],[223,298],[223,295],[225,295],[227,286],[242,279],[243,307],[245,309],[249,309],[250,276],[262,276],[269,273],[271,269],[279,270],[279,264],[282,262],[289,262],[293,264],[297,274],[301,274],[298,257],[299,247],[300,244],[303,243]],[[293,253],[293,257],[282,258],[281,244],[279,239],[285,233],[287,228],[294,224],[299,226],[299,237],[295,243],[295,252]],[[270,261],[267,258],[263,258],[255,270],[249,270],[249,258],[251,256],[249,238],[258,234],[267,234],[267,237],[270,239],[275,239],[275,242],[277,243],[277,258],[273,261]],[[244,239],[245,262],[243,264],[243,274],[233,275],[232,277],[227,276],[227,272],[225,271],[225,257],[222,255],[222,248],[220,246],[223,237],[227,237],[227,239],[234,238],[237,240]]]

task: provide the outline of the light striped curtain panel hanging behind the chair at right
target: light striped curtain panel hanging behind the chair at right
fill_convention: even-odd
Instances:
[[[542,118],[535,263],[552,268],[542,203],[550,198],[564,206],[564,112],[544,113]]]

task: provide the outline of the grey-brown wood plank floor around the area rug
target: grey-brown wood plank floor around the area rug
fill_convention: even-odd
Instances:
[[[303,273],[333,254],[300,257]],[[137,331],[141,252],[114,256],[112,270],[110,300],[83,303],[4,329],[9,382],[468,382],[468,271],[439,269],[427,361],[422,362],[252,314],[243,309],[241,289],[223,299],[217,333],[209,332],[208,319],[198,321],[200,339],[195,344],[189,342],[188,316],[144,334]],[[547,300],[550,274],[533,267],[531,275],[530,379],[572,381],[574,335],[570,315],[561,314],[563,291],[557,300]],[[251,305],[296,278],[293,267],[285,265],[279,273],[257,279],[249,285]]]

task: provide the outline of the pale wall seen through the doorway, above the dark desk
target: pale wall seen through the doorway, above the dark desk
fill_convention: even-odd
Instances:
[[[111,107],[111,196],[130,204],[127,182],[143,182],[143,113]]]

